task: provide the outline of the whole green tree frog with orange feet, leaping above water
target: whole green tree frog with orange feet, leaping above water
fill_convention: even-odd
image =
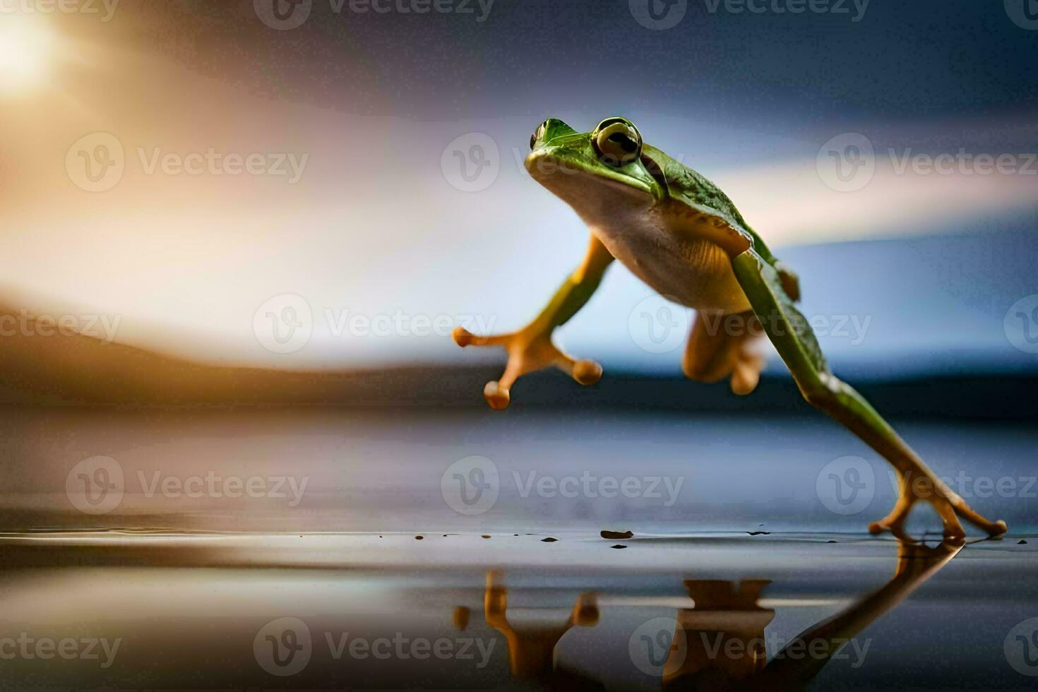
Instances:
[[[557,367],[580,385],[599,382],[601,365],[565,353],[552,335],[588,303],[619,260],[659,296],[694,311],[682,357],[690,380],[727,378],[735,394],[749,394],[765,365],[758,341],[767,339],[801,396],[894,468],[898,497],[883,519],[869,524],[870,533],[890,531],[900,541],[913,541],[905,520],[920,502],[936,510],[947,542],[965,541],[960,518],[989,537],[1007,532],[1005,521],[991,522],[975,511],[861,393],[832,373],[797,308],[799,277],[771,253],[716,185],[646,143],[635,124],[621,116],[582,133],[547,118],[530,136],[529,148],[526,171],[573,209],[590,240],[583,260],[525,327],[485,335],[461,326],[453,331],[460,347],[507,352],[504,372],[484,387],[491,409],[507,409],[516,380],[543,368]],[[733,320],[744,328],[731,328]]]

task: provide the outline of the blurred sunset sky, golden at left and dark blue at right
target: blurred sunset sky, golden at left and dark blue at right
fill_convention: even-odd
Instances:
[[[500,359],[447,326],[521,326],[586,243],[529,134],[622,114],[800,261],[808,309],[887,325],[827,350],[1033,360],[1002,323],[1038,293],[1031,0],[276,1],[0,0],[0,302],[215,362]],[[1013,256],[998,296],[996,258],[950,269],[978,247]],[[653,300],[610,270],[567,348],[676,369]],[[912,329],[935,306],[973,327]]]

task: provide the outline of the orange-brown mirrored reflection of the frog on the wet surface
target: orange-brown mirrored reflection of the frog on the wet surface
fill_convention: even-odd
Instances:
[[[770,581],[687,580],[684,585],[694,606],[677,611],[675,632],[664,637],[670,652],[663,665],[662,686],[707,690],[801,688],[844,643],[897,606],[960,549],[961,546],[950,544],[929,548],[900,543],[897,568],[886,584],[771,652],[766,651],[768,639],[764,630],[774,617],[774,610],[759,605],[761,591]],[[467,616],[463,616],[462,610],[456,612],[455,621],[463,629]],[[508,640],[513,675],[555,685],[565,683],[569,688],[596,685],[568,671],[565,662],[555,657],[555,645],[572,627],[598,624],[594,593],[579,594],[569,618],[554,625],[516,628],[509,621],[507,611],[508,588],[500,573],[489,572],[484,614],[487,624]],[[794,647],[810,651],[810,655],[794,656]]]

